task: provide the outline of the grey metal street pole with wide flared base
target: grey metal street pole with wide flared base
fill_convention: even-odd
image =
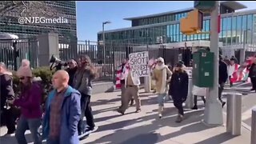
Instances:
[[[204,122],[208,125],[222,125],[222,104],[218,100],[218,10],[219,1],[215,1],[214,10],[210,14],[210,51],[214,53],[214,86],[210,87],[210,95],[206,98]]]

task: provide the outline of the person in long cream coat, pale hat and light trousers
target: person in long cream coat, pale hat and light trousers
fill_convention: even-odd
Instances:
[[[165,65],[163,58],[158,58],[157,65],[153,71],[152,79],[156,81],[156,92],[158,93],[158,115],[162,118],[162,110],[164,107],[164,102],[166,98],[166,93],[168,91],[167,82],[170,82],[170,77],[172,72]]]

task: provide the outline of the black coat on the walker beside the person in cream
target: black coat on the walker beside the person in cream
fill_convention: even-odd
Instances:
[[[187,97],[189,86],[189,76],[186,71],[174,72],[170,78],[169,94],[174,100],[182,100]]]

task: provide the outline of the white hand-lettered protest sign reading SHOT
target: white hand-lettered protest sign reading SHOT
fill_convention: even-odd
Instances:
[[[133,77],[150,76],[149,52],[142,51],[129,54],[130,70]]]

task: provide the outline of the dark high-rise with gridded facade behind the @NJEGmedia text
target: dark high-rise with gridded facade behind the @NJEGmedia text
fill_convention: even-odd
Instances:
[[[0,18],[0,32],[16,34],[19,38],[31,38],[38,34],[55,32],[59,34],[60,41],[77,39],[76,30],[76,6],[75,1],[43,1],[46,6],[51,6],[57,12],[54,18],[66,18],[67,23],[37,23],[20,24],[20,14],[17,10],[11,10]],[[3,2],[0,2],[0,6]],[[38,15],[40,17],[41,15]]]

